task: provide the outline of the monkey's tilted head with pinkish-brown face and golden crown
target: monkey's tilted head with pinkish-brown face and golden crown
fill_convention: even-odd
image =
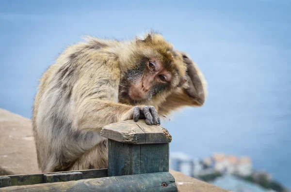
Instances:
[[[161,34],[152,32],[131,45],[120,89],[131,103],[165,98],[186,81],[187,66],[181,53]]]

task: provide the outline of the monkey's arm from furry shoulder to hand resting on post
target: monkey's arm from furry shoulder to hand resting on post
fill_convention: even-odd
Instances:
[[[96,73],[97,71],[102,73]],[[158,112],[152,106],[131,106],[118,103],[118,72],[107,68],[87,71],[78,83],[75,94],[74,130],[92,131],[110,123],[140,118],[147,124],[158,124]],[[95,73],[92,73],[92,72]]]

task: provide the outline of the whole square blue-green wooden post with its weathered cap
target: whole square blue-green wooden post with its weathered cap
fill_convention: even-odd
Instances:
[[[108,176],[169,171],[172,137],[162,126],[145,120],[109,124],[101,136],[108,138]]]

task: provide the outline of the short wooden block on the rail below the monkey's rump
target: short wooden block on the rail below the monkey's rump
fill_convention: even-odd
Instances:
[[[44,183],[54,183],[63,181],[76,181],[83,179],[81,172],[69,172],[69,173],[52,173],[44,174]]]

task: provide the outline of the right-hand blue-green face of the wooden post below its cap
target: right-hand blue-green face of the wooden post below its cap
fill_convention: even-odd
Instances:
[[[169,144],[141,145],[140,173],[169,171]]]

